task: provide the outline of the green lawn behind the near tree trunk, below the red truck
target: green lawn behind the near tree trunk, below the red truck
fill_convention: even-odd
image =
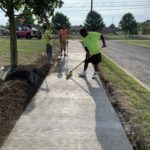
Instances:
[[[10,64],[10,40],[0,37],[0,66]],[[18,39],[18,63],[33,64],[34,60],[45,52],[44,39]]]

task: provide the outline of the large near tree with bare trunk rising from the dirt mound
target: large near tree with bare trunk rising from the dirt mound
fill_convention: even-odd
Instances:
[[[9,18],[12,67],[18,64],[15,12],[28,8],[30,14],[34,14],[37,19],[48,21],[48,17],[53,15],[54,9],[61,7],[62,4],[61,0],[0,0],[0,8]]]

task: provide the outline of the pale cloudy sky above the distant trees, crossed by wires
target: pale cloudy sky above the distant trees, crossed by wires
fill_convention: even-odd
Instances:
[[[61,12],[69,18],[71,25],[83,25],[88,12],[91,9],[91,0],[63,0],[62,8],[55,12]],[[106,26],[115,24],[125,13],[132,13],[137,22],[150,20],[150,0],[93,0],[93,10],[103,18]],[[0,10],[0,25],[6,25],[8,18]]]

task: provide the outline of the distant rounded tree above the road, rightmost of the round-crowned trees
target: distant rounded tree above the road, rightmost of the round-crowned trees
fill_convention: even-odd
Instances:
[[[127,13],[122,17],[119,26],[126,35],[137,34],[138,32],[138,24],[131,13]]]

